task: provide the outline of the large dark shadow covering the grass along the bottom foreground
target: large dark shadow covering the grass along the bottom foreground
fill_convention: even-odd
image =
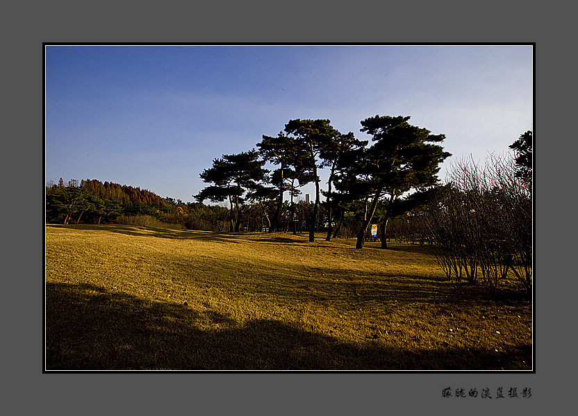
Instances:
[[[240,326],[211,310],[145,301],[95,285],[47,283],[48,370],[520,369],[530,347],[406,351],[362,347],[283,322]]]

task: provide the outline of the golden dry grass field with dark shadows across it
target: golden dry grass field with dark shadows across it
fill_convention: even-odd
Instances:
[[[46,226],[46,368],[530,370],[531,299],[428,247]]]

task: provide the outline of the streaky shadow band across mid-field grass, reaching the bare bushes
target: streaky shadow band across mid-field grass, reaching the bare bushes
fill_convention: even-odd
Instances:
[[[323,269],[329,278],[283,275],[265,278],[255,285],[255,292],[266,293],[288,304],[312,301],[340,310],[371,309],[374,306],[395,314],[404,306],[427,308],[451,313],[451,308],[515,306],[527,308],[531,303],[526,292],[515,289],[490,291],[483,285],[441,281],[438,278],[372,274],[347,270]],[[235,283],[230,283],[231,285]],[[239,283],[241,284],[241,283]]]

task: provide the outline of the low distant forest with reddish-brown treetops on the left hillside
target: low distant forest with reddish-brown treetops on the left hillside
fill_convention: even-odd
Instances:
[[[299,201],[295,206],[295,231],[304,231],[311,204]],[[242,231],[268,231],[271,210],[274,210],[272,203],[245,204]],[[60,178],[57,184],[51,181],[46,188],[47,224],[116,223],[218,232],[229,231],[229,216],[229,207],[224,205],[163,198],[149,190],[97,179],[73,179],[65,183]],[[292,228],[287,217],[279,231]]]

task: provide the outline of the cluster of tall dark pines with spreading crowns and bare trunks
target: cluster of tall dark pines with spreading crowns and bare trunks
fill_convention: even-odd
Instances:
[[[283,194],[290,195],[290,215],[295,219],[294,197],[299,187],[315,184],[315,202],[308,217],[309,241],[315,231],[324,195],[326,240],[336,233],[333,224],[354,217],[356,247],[363,247],[368,227],[379,216],[381,244],[387,247],[386,228],[390,218],[422,203],[438,183],[439,164],[450,156],[439,143],[445,135],[432,135],[426,128],[408,123],[410,117],[369,117],[361,122],[361,131],[372,135],[357,140],[354,133],[340,133],[327,119],[292,119],[276,137],[263,135],[253,149],[223,155],[201,173],[206,188],[195,195],[197,201],[229,201],[229,229],[240,231],[243,203],[263,206],[270,231],[279,229]],[[276,168],[264,168],[265,163]],[[329,169],[327,190],[321,190],[320,169]],[[402,198],[415,190],[411,197]],[[272,215],[265,207],[275,201]],[[378,209],[379,208],[379,209]],[[293,221],[295,223],[295,220]]]

